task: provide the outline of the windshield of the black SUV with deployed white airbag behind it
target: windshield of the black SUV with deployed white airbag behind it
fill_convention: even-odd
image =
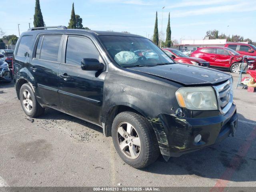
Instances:
[[[112,59],[122,67],[174,64],[158,46],[146,38],[99,36]]]

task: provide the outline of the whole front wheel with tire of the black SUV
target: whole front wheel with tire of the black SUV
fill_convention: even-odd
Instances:
[[[152,164],[160,154],[152,125],[145,117],[134,112],[121,112],[114,118],[112,140],[122,160],[137,169]]]

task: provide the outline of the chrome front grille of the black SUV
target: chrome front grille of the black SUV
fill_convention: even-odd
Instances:
[[[228,80],[223,84],[214,86],[218,99],[218,107],[222,114],[226,114],[233,103],[232,80]]]

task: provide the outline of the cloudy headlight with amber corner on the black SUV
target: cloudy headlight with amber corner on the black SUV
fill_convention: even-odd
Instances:
[[[184,87],[176,91],[181,107],[190,110],[218,110],[216,94],[212,87]]]

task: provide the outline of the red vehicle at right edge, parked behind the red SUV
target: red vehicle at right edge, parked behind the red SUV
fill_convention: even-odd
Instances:
[[[245,43],[227,43],[224,47],[228,47],[241,55],[256,56],[256,46]]]

